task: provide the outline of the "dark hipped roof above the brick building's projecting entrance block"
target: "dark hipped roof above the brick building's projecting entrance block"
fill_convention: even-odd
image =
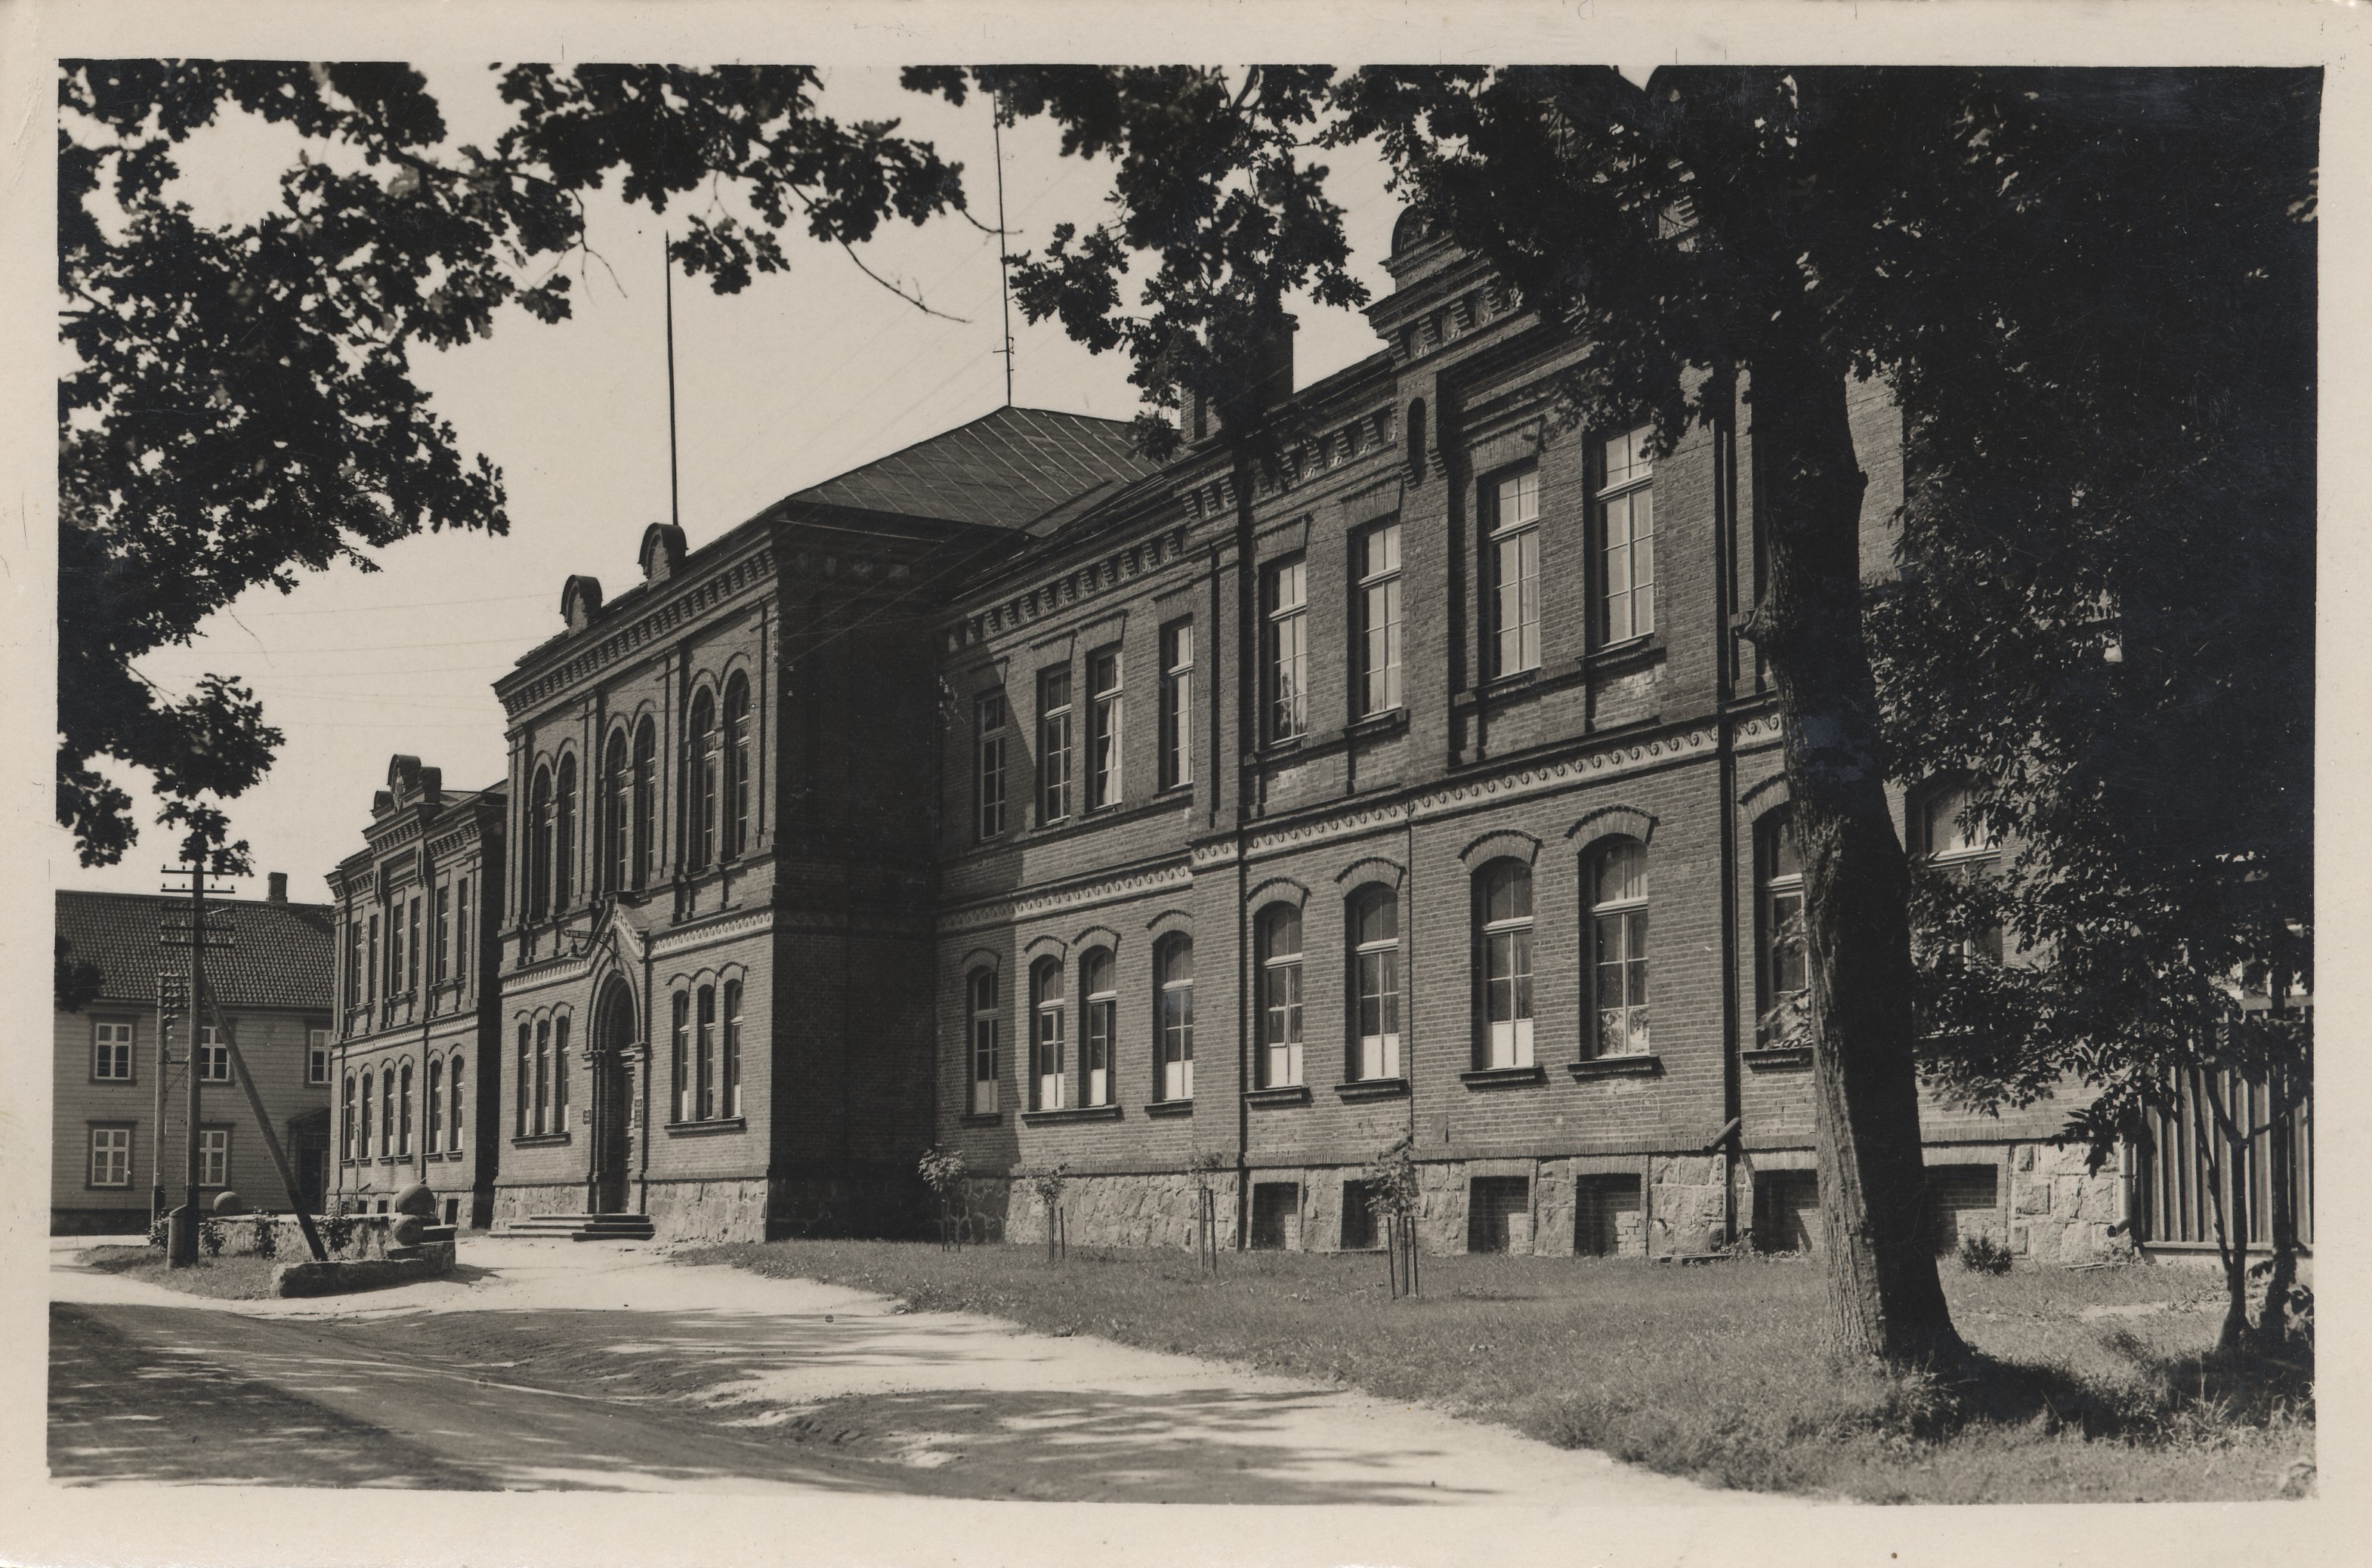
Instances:
[[[1153,465],[1129,446],[1122,420],[999,408],[797,491],[785,505],[837,505],[1020,529],[1079,491],[1150,472]]]

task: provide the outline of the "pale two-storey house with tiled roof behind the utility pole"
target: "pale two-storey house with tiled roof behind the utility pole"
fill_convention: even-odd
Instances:
[[[273,1120],[306,1200],[320,1203],[330,1150],[330,909],[289,904],[287,878],[268,899],[211,899],[209,925],[235,942],[206,954],[206,987],[223,1011],[256,1094]],[[159,1048],[159,977],[187,996],[190,949],[159,944],[187,928],[190,901],[123,892],[59,892],[57,935],[97,992],[81,1008],[52,1008],[55,1098],[50,1113],[50,1229],[128,1234],[149,1224],[154,1191],[166,1207],[185,1193],[187,1022],[171,1020],[171,1060]],[[287,1193],[254,1113],[230,1072],[213,1022],[199,1041],[199,1179],[206,1203],[225,1186],[249,1207],[285,1210]]]

